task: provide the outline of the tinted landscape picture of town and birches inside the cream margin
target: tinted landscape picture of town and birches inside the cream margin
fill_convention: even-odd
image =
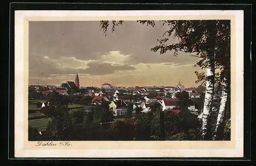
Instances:
[[[29,21],[29,141],[230,140],[230,20]]]

